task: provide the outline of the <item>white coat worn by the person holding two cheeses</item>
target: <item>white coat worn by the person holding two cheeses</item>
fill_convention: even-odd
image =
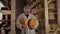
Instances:
[[[35,34],[35,29],[29,29],[28,26],[25,29],[21,28],[22,24],[20,24],[19,18],[22,18],[22,17],[26,18],[27,20],[29,20],[30,18],[35,18],[36,19],[36,17],[32,14],[29,14],[29,16],[27,18],[26,15],[23,13],[17,18],[17,23],[16,23],[17,28],[21,29],[21,34]],[[37,28],[37,26],[38,26],[38,20],[36,19],[35,28]]]

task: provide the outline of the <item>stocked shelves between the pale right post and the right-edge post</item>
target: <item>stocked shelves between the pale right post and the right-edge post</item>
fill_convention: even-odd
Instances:
[[[52,34],[58,34],[57,32],[58,32],[58,20],[57,20],[57,0],[55,0],[55,1],[51,1],[50,3],[49,3],[49,9],[48,9],[48,11],[49,11],[49,13],[51,12],[51,13],[53,13],[54,14],[54,16],[52,16],[51,15],[51,19],[49,19],[49,23],[50,23],[50,30],[55,30],[55,31],[53,31],[53,32],[51,32]],[[51,11],[51,10],[53,10],[53,11]],[[54,17],[54,19],[53,19],[53,17]],[[57,30],[57,32],[56,32],[56,30]]]

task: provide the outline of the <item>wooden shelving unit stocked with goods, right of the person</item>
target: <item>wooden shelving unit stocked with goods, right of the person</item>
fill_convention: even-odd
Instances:
[[[34,14],[40,25],[38,27],[38,30],[40,30],[38,33],[39,34],[58,34],[59,32],[59,25],[60,22],[58,20],[60,17],[60,8],[59,8],[59,0],[31,0],[31,3],[34,3],[35,5],[31,4],[33,7],[31,8],[31,13]],[[29,5],[28,4],[28,5]],[[59,6],[57,6],[57,4]],[[30,6],[31,6],[30,5]],[[58,13],[59,12],[59,13]],[[59,15],[59,16],[58,16]],[[43,26],[44,24],[44,26]],[[43,26],[43,27],[41,27]],[[41,32],[43,31],[43,32]]]

